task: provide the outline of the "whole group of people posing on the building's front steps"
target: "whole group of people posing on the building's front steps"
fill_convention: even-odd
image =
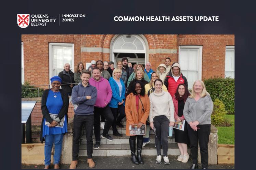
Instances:
[[[55,145],[54,169],[59,169],[62,139],[67,132],[68,95],[72,95],[72,103],[77,106],[74,109],[70,169],[76,169],[78,164],[79,142],[83,127],[85,127],[87,139],[87,163],[90,168],[93,168],[95,167],[92,159],[93,148],[100,148],[101,138],[114,140],[108,134],[111,126],[114,136],[122,136],[116,126],[124,127],[121,124],[124,117],[126,117],[126,136],[130,136],[132,163],[144,164],[141,153],[143,146],[150,142],[151,127],[155,129],[156,163],[162,163],[163,155],[164,164],[170,164],[169,127],[185,120],[184,130],[174,129],[175,141],[181,153],[177,160],[183,163],[188,162],[189,145],[193,161],[191,169],[198,168],[199,141],[202,167],[207,169],[212,99],[201,80],[194,82],[190,93],[187,78],[182,75],[179,63],[170,65],[170,62],[170,58],[166,58],[165,63],[160,64],[156,71],[151,69],[149,62],[145,64],[145,68],[141,64],[136,67],[129,66],[128,59],[125,57],[117,61],[116,68],[113,62],[98,60],[92,61],[91,66],[85,70],[84,64],[80,62],[75,73],[66,63],[59,76],[51,78],[52,88],[45,90],[42,95],[43,119],[40,140],[41,142],[45,140],[44,169],[50,168],[53,144]],[[105,121],[102,134],[101,120]],[[146,125],[145,135],[130,134],[131,128],[135,126],[140,128],[142,125]],[[161,145],[163,153],[161,153]]]

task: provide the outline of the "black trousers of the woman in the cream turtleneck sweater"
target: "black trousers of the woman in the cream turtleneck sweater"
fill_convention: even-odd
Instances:
[[[163,147],[163,155],[168,155],[168,134],[169,134],[169,119],[165,115],[154,117],[154,127],[156,128],[156,152],[161,155],[161,141]],[[157,137],[157,138],[156,138]]]

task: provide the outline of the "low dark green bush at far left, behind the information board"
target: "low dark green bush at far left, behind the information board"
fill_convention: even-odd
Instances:
[[[39,97],[43,94],[43,89],[39,88]],[[30,86],[29,82],[24,82],[21,85],[21,97],[22,98],[29,98],[29,97],[38,97],[38,88],[35,86]]]

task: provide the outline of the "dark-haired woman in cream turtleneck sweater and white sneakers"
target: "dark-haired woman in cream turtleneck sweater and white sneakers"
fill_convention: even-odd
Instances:
[[[169,126],[173,126],[174,119],[174,105],[172,102],[171,95],[165,92],[163,87],[163,81],[156,79],[154,81],[155,91],[149,96],[150,99],[150,114],[149,121],[150,127],[155,128],[155,143],[156,143],[156,163],[161,164],[161,142],[163,148],[164,164],[169,165],[168,158],[168,141],[167,137],[169,134]]]

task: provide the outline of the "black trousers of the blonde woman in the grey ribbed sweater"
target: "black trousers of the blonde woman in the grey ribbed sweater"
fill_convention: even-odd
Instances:
[[[199,129],[197,129],[197,131],[194,131],[188,124],[188,134],[193,164],[197,164],[199,141],[202,167],[208,168],[208,142],[211,132],[211,125],[197,125],[197,128]]]

